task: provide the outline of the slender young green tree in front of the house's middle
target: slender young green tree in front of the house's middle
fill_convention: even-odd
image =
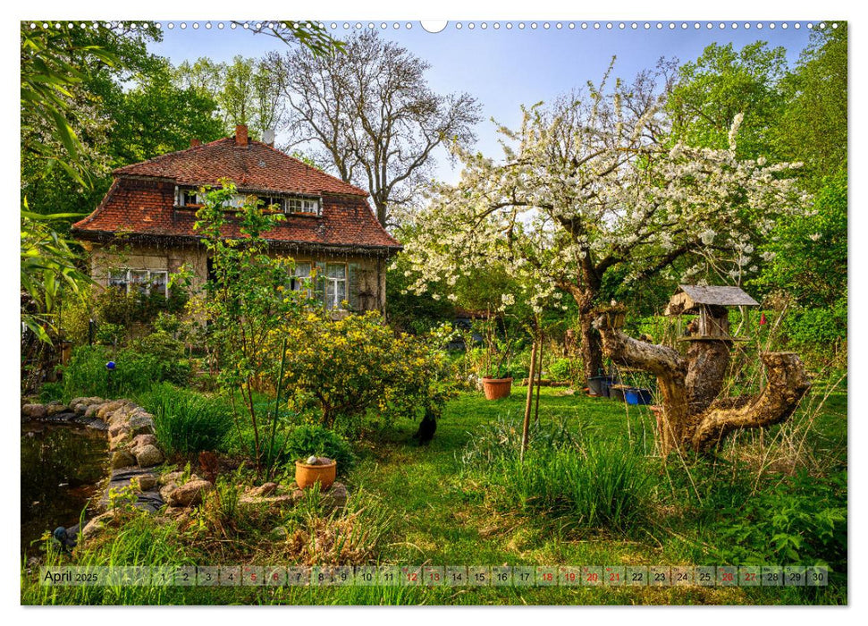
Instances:
[[[237,195],[232,182],[206,194],[197,211],[195,228],[212,258],[213,275],[205,286],[204,299],[194,310],[208,324],[207,344],[215,356],[217,380],[232,401],[240,441],[252,430],[252,454],[258,478],[271,478],[282,447],[277,444],[279,415],[268,415],[257,404],[260,390],[277,390],[280,400],[282,360],[278,353],[279,329],[293,326],[304,303],[303,292],[286,291],[291,261],[268,254],[264,233],[283,216],[263,210],[253,197],[234,207]],[[237,228],[237,234],[232,229]],[[276,404],[276,402],[275,402]],[[246,427],[242,428],[242,420]],[[284,439],[285,440],[285,439]]]

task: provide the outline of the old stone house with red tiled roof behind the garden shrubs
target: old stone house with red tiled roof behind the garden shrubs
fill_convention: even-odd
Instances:
[[[223,178],[238,187],[235,201],[256,196],[285,214],[265,236],[274,254],[295,259],[291,288],[314,274],[334,316],[384,308],[386,264],[400,244],[377,222],[367,192],[249,140],[246,126],[234,137],[193,140],[186,150],[114,170],[103,201],[72,227],[90,252],[94,280],[165,293],[168,276],[186,264],[197,276],[193,288],[200,287],[209,259],[193,228],[198,190]]]

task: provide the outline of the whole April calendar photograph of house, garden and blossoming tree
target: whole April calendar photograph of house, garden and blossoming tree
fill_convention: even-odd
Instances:
[[[21,605],[848,604],[847,21],[20,43]]]

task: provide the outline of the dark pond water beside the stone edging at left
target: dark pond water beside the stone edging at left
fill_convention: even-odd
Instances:
[[[39,554],[38,540],[79,523],[108,471],[104,432],[40,422],[21,424],[21,554]],[[96,503],[97,498],[94,498]],[[93,515],[88,511],[85,517]]]

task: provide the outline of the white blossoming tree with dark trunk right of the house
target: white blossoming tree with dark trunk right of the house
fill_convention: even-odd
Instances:
[[[499,161],[454,147],[460,180],[434,186],[405,247],[417,292],[501,265],[537,310],[572,297],[594,376],[603,365],[594,308],[611,268],[623,264],[635,281],[679,258],[705,259],[737,283],[755,237],[804,206],[789,176],[797,164],[738,160],[740,115],[727,150],[667,147],[650,84],[645,75],[607,90],[603,80],[552,106],[523,107],[518,130],[499,129]]]

